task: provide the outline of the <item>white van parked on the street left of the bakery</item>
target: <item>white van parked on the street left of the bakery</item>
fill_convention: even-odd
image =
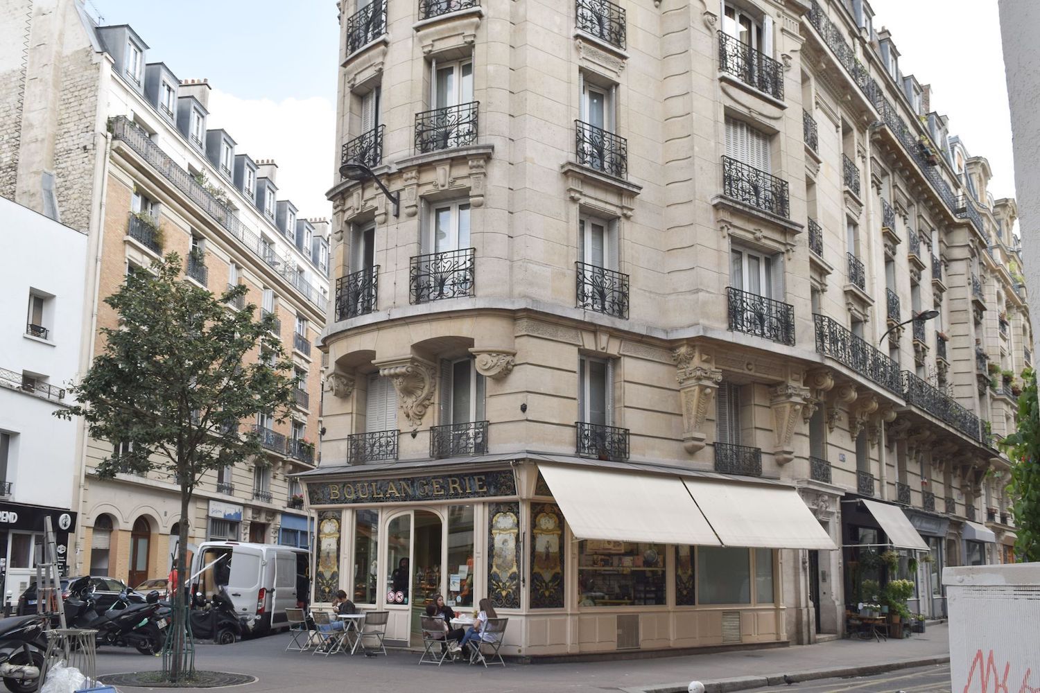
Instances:
[[[191,575],[199,574],[191,593],[210,598],[218,585],[227,585],[235,611],[245,618],[250,633],[284,629],[289,625],[285,610],[297,602],[310,602],[310,565],[306,549],[203,541],[191,560]]]

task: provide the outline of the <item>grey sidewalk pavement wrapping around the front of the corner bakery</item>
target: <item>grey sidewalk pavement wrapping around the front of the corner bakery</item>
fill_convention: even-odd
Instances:
[[[874,642],[835,640],[818,645],[752,649],[686,657],[613,660],[567,664],[509,664],[502,667],[417,666],[419,652],[391,650],[389,657],[312,657],[286,652],[288,636],[276,635],[234,645],[199,645],[199,669],[249,673],[259,677],[250,693],[261,691],[328,691],[346,687],[366,693],[397,693],[421,687],[423,693],[670,693],[685,691],[691,681],[712,684],[709,692],[746,690],[769,683],[768,676],[853,675],[877,671],[879,665],[905,667],[948,659],[947,625],[929,625],[908,640]],[[132,649],[101,647],[98,673],[158,669],[158,658]],[[869,670],[866,670],[869,668]],[[835,671],[837,670],[837,671]],[[808,676],[805,672],[814,672]],[[802,674],[799,676],[799,674]],[[781,682],[782,683],[782,682]],[[141,689],[120,690],[136,691]],[[182,691],[203,689],[180,689]]]

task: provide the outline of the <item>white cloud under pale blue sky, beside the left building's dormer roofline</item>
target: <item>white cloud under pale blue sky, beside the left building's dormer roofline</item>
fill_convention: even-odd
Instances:
[[[209,95],[207,127],[224,128],[236,151],[278,164],[279,199],[290,199],[301,217],[331,217],[324,192],[333,185],[336,109],[328,99],[240,99],[219,89]]]

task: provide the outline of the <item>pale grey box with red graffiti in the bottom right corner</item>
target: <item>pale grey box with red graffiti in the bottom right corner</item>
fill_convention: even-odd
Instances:
[[[1040,563],[945,568],[954,691],[1040,691]]]

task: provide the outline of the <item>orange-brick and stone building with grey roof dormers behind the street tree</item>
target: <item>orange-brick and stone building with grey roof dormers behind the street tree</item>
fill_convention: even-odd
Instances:
[[[104,348],[100,330],[116,325],[104,298],[127,272],[176,251],[185,281],[217,294],[249,287],[228,310],[252,303],[277,315],[277,337],[298,376],[286,421],[241,424],[261,435],[269,463],[209,475],[196,488],[188,518],[179,516],[179,486],[168,477],[98,479],[94,470],[119,443],[81,436],[79,469],[70,470],[78,479],[79,522],[69,569],[131,584],[165,577],[185,521],[193,542],[310,547],[313,524],[289,475],[313,469],[318,458],[322,363],[313,345],[329,304],[328,220],[308,219],[278,195],[275,161],[253,159],[236,149],[232,133],[207,128],[207,81],[179,79],[171,66],[150,61],[132,27],[99,26],[74,0],[22,9],[3,24],[5,35],[25,32],[30,47],[25,55],[4,49],[0,63],[5,80],[26,84],[11,110],[17,133],[3,143],[14,148],[5,164],[17,162],[14,176],[4,171],[4,194],[88,234],[84,292],[93,310],[82,327],[81,372]]]

